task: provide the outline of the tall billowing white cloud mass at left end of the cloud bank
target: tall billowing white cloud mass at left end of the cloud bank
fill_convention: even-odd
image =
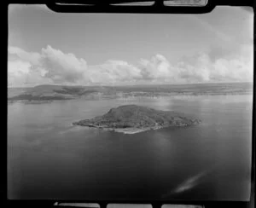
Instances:
[[[26,67],[26,76],[32,72],[38,72],[41,78],[50,80],[54,84],[75,84],[79,80],[84,80],[84,72],[87,68],[87,63],[83,59],[78,59],[73,54],[64,54],[61,50],[53,49],[49,45],[43,48],[40,54],[9,47],[9,55],[17,56],[15,61],[9,61],[9,72],[15,70],[17,61],[23,61],[30,65]]]

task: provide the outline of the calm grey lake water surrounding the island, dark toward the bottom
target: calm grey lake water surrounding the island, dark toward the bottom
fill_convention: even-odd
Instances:
[[[202,123],[134,135],[72,126],[125,104]],[[252,108],[253,95],[9,104],[9,199],[247,200]]]

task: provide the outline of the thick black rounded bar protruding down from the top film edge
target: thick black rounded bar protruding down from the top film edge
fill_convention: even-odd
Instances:
[[[111,5],[111,3],[143,2],[140,0],[109,0],[109,1],[49,1],[47,7],[60,13],[144,13],[144,14],[204,14],[215,8],[215,3],[208,0],[205,6],[165,6],[163,0],[154,0],[153,5],[148,6],[124,6]]]

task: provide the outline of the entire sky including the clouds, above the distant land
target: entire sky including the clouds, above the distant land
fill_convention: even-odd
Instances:
[[[253,82],[253,9],[63,14],[9,4],[9,87]]]

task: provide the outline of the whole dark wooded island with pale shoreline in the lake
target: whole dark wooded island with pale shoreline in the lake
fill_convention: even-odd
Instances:
[[[201,123],[200,119],[185,116],[183,113],[126,105],[112,108],[102,116],[80,120],[73,124],[102,130],[114,130],[125,134],[135,134],[144,130],[156,130],[171,126],[189,126],[199,123]]]

